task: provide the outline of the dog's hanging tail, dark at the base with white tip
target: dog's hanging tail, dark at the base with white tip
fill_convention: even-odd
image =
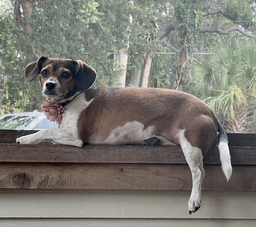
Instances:
[[[218,122],[218,132],[219,132],[219,157],[220,162],[222,162],[222,170],[226,176],[227,181],[229,181],[232,174],[232,166],[230,160],[230,150],[227,143],[227,134],[223,129],[223,126]]]

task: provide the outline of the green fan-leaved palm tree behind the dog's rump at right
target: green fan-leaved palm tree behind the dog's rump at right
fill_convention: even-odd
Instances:
[[[195,61],[191,91],[233,133],[255,132],[256,41],[219,43],[207,61]]]

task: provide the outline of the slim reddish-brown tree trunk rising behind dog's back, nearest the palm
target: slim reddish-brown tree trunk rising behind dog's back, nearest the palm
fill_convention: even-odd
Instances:
[[[181,41],[181,58],[180,58],[180,65],[178,67],[178,71],[175,76],[175,84],[174,84],[174,90],[182,90],[182,76],[183,76],[183,69],[185,67],[186,63],[186,47],[185,47],[186,39],[183,39]]]

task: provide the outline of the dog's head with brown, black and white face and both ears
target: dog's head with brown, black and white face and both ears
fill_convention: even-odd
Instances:
[[[95,70],[80,60],[53,59],[45,56],[26,66],[26,82],[36,79],[38,74],[43,96],[52,101],[67,99],[79,90],[87,90],[96,79]]]

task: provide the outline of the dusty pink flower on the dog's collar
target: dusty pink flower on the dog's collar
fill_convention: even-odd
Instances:
[[[57,122],[57,124],[61,124],[61,120],[64,117],[64,107],[57,102],[49,102],[41,104],[41,108],[44,110],[44,114],[47,119],[51,120],[51,122]]]

